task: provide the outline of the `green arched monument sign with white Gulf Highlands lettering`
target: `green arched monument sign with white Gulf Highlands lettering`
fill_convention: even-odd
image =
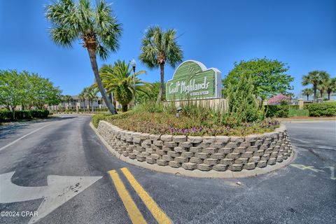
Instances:
[[[214,98],[221,98],[221,71],[201,62],[182,62],[166,83],[167,101]]]

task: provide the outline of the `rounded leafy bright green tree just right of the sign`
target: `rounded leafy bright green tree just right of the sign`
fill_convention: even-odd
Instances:
[[[293,89],[290,82],[294,80],[292,76],[286,74],[288,69],[286,64],[276,59],[255,58],[242,60],[239,64],[235,62],[235,68],[222,80],[225,88],[223,93],[227,97],[229,85],[237,85],[242,76],[251,76],[255,97],[263,100],[279,93],[286,94],[287,90]]]

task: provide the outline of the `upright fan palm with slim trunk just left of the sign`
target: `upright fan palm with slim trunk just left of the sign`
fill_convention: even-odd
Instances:
[[[156,103],[162,100],[165,80],[165,64],[175,67],[183,59],[183,51],[176,40],[176,30],[164,31],[161,27],[149,27],[141,43],[140,60],[150,69],[160,67],[160,91]]]

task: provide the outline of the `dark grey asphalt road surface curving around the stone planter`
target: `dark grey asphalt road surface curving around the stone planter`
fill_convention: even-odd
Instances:
[[[118,172],[146,222],[156,223],[120,171],[123,167],[173,223],[336,223],[335,122],[286,124],[297,152],[292,164],[244,179],[196,179],[128,165],[110,155],[89,123],[90,116],[64,116],[0,127],[0,174],[15,172],[15,185],[48,186],[50,175],[99,178],[37,223],[132,223],[132,211],[125,209],[110,170]],[[3,189],[0,201],[5,194],[25,195]],[[0,211],[34,212],[41,202],[2,203]],[[28,223],[30,218],[0,216],[0,223]]]

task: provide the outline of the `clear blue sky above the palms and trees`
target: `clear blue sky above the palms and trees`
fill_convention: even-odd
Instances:
[[[109,1],[109,0],[108,0]],[[140,54],[141,37],[151,25],[175,28],[184,59],[216,67],[224,77],[234,62],[253,57],[279,59],[290,66],[295,94],[301,77],[323,69],[336,76],[336,1],[191,1],[114,0],[123,24],[120,49],[103,63],[129,61]],[[0,0],[0,69],[28,70],[50,78],[64,94],[78,94],[94,81],[87,51],[80,42],[64,49],[48,36],[45,0]],[[159,69],[147,70],[146,81],[159,80]],[[167,66],[165,80],[174,69]]]

